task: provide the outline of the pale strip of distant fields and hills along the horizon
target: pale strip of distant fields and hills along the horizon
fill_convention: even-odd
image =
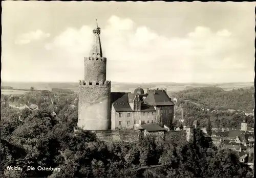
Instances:
[[[238,82],[238,83],[174,83],[174,82],[154,82],[154,83],[120,83],[120,82],[111,82],[113,91],[130,91],[132,92],[138,86],[142,87],[144,90],[146,88],[167,88],[167,91],[180,91],[190,88],[198,87],[207,87],[207,86],[216,86],[223,88],[224,90],[232,90],[236,88],[251,87],[254,85],[253,82]],[[52,88],[59,89],[70,89],[73,91],[78,91],[78,82],[2,82],[1,89],[24,89],[29,90],[30,87],[33,87],[35,90],[52,90]]]

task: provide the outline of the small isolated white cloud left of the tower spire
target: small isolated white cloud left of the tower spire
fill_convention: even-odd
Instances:
[[[15,44],[28,44],[33,40],[40,40],[49,37],[49,33],[44,33],[41,30],[36,30],[34,32],[25,33],[19,35],[15,40]]]

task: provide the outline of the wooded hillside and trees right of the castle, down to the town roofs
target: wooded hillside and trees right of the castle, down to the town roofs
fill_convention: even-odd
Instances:
[[[175,116],[181,119],[183,109],[184,125],[200,122],[201,128],[240,129],[242,120],[247,120],[248,126],[253,127],[254,88],[224,91],[217,87],[202,87],[173,93],[178,99],[175,106]],[[245,104],[246,103],[246,104]],[[231,110],[235,109],[235,110]],[[209,128],[208,128],[209,129]]]

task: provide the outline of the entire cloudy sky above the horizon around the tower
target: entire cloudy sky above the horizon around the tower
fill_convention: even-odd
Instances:
[[[252,82],[255,3],[2,2],[2,80],[76,82],[98,19],[107,79]]]

